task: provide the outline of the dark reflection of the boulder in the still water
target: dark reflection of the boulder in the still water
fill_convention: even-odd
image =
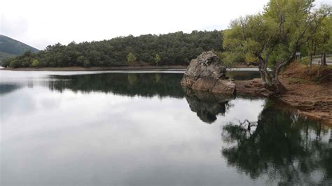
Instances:
[[[184,91],[191,111],[197,113],[200,120],[207,123],[214,122],[216,115],[219,113],[225,113],[228,108],[228,101],[233,99],[230,96],[197,90],[184,89]]]

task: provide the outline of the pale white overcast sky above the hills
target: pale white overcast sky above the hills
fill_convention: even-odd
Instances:
[[[268,0],[0,0],[0,34],[44,49],[55,43],[100,41],[132,34],[226,29],[258,13]],[[316,3],[332,4],[332,0]]]

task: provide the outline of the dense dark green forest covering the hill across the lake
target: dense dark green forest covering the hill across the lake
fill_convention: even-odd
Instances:
[[[49,45],[34,54],[8,59],[2,66],[64,67],[64,66],[127,66],[181,65],[205,50],[222,50],[221,31],[182,31],[162,35],[141,35],[111,40]]]

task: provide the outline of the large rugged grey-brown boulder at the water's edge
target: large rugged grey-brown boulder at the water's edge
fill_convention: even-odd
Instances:
[[[202,52],[191,60],[181,85],[193,90],[219,94],[235,94],[235,84],[228,80],[226,67],[217,62],[218,57],[211,51]]]

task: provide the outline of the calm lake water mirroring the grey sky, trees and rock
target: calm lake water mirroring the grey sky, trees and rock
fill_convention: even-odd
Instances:
[[[182,76],[0,71],[0,185],[332,184],[330,127]]]

